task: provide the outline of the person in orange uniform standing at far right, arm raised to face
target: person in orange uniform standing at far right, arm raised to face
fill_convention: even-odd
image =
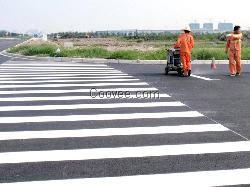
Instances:
[[[235,77],[241,74],[241,43],[243,35],[240,26],[234,27],[234,32],[227,36],[226,53],[229,52],[230,76]]]

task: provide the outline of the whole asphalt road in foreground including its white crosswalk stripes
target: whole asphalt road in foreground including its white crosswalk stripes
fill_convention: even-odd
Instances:
[[[163,70],[2,63],[1,187],[249,186],[248,66]]]

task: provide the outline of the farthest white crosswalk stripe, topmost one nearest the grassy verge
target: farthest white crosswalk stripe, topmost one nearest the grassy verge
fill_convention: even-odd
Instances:
[[[42,67],[48,67],[48,66],[56,66],[56,67],[108,67],[107,65],[105,64],[72,64],[72,63],[69,63],[69,64],[64,64],[64,63],[4,63],[4,64],[1,64],[1,66],[3,67],[23,67],[23,66],[28,66],[28,67],[37,67],[37,66],[42,66]]]

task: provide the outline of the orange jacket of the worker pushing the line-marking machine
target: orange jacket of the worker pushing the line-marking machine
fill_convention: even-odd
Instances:
[[[194,48],[194,37],[191,34],[183,33],[179,36],[175,48],[180,48],[181,53],[191,54]]]

